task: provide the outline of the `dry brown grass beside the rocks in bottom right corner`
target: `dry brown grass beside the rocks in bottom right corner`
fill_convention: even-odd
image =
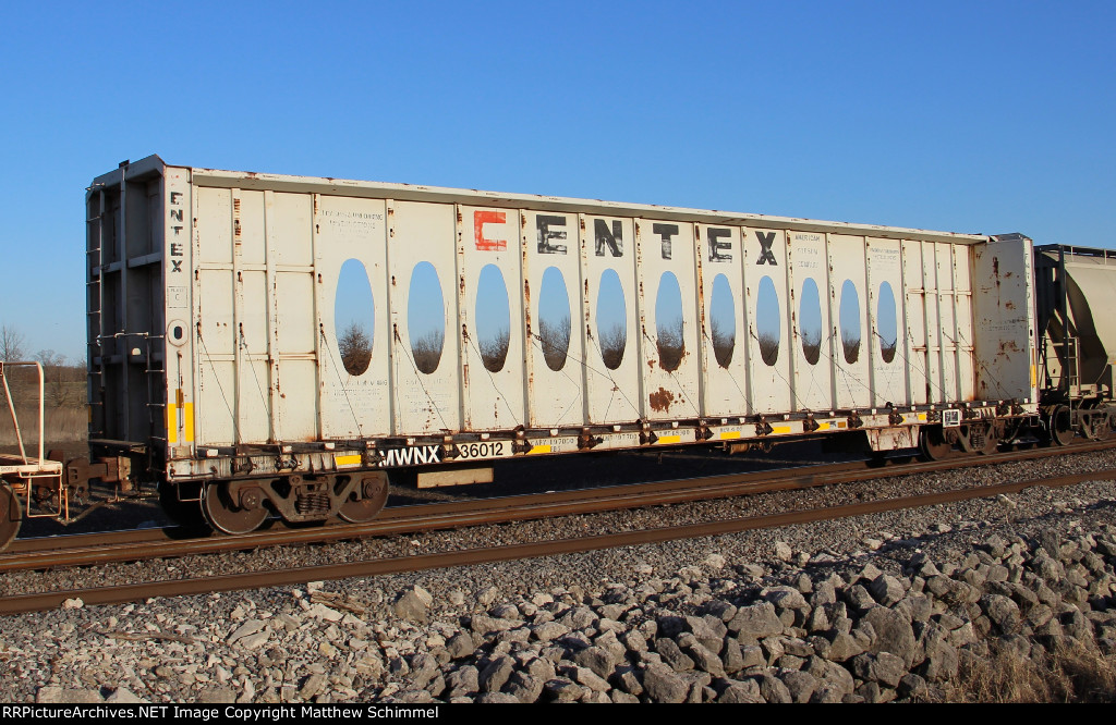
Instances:
[[[1023,658],[1001,651],[963,659],[944,699],[955,703],[1116,702],[1116,657],[1096,649],[1059,650]]]

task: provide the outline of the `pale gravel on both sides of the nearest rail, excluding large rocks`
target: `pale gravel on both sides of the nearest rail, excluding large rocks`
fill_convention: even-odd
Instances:
[[[206,571],[297,567],[357,557],[430,553],[695,522],[713,515],[753,516],[836,505],[853,499],[912,495],[1113,466],[1116,452],[1077,454],[818,490],[385,540],[48,573],[13,572],[0,582],[0,594]],[[1116,483],[1113,482],[1058,490],[1040,487],[1008,497],[809,525],[325,582],[315,586],[314,591],[307,587],[273,588],[8,617],[0,629],[0,671],[4,673],[0,678],[0,698],[41,700],[44,693],[50,696],[70,693],[74,697],[137,696],[153,702],[391,699],[412,692],[407,683],[415,657],[441,652],[463,622],[493,611],[499,615],[501,607],[519,607],[520,612],[535,607],[538,611],[540,606],[531,602],[546,602],[548,598],[551,602],[604,602],[610,588],[616,587],[644,592],[655,588],[660,592],[670,591],[672,587],[693,591],[700,589],[695,582],[704,581],[709,588],[709,582],[715,581],[716,587],[731,590],[757,578],[792,581],[802,568],[816,573],[872,563],[882,572],[898,576],[902,562],[912,552],[922,552],[937,561],[960,560],[972,550],[974,541],[993,533],[1008,540],[1033,540],[1050,530],[1064,535],[1100,531],[1101,526],[1116,522],[1114,501]],[[416,597],[421,606],[408,609]],[[323,609],[333,613],[323,613]],[[241,628],[254,629],[244,634]],[[475,635],[475,626],[473,629]],[[238,631],[241,634],[234,636]],[[127,632],[128,637],[106,638],[106,632]],[[273,640],[277,632],[287,632],[282,663],[273,656],[275,649],[268,648],[268,638]],[[253,647],[247,646],[257,640]],[[372,650],[381,665],[362,666]],[[599,694],[588,685],[578,687],[583,689],[547,690],[547,697],[562,699],[576,692],[580,693],[576,698],[589,699],[589,690]],[[706,683],[703,687],[708,690],[711,686]],[[445,688],[446,693],[451,690],[449,686]],[[701,699],[700,693],[698,697]]]

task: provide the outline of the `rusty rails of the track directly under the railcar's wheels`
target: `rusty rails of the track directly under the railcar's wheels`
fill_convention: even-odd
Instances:
[[[109,532],[17,540],[9,552],[0,555],[0,572],[48,569],[66,566],[90,566],[119,561],[138,561],[189,554],[209,554],[282,544],[324,543],[345,539],[387,536],[436,529],[527,521],[547,516],[598,513],[602,511],[666,505],[695,500],[729,497],[745,493],[764,493],[807,489],[865,480],[889,478],[1006,462],[1026,461],[1088,453],[1116,446],[1101,442],[1075,446],[1072,450],[1042,448],[989,456],[963,457],[953,461],[905,463],[886,467],[866,467],[865,462],[827,466],[799,466],[743,474],[720,474],[700,478],[680,478],[644,484],[626,484],[603,489],[579,489],[557,493],[519,494],[464,502],[417,504],[385,510],[375,521],[365,524],[330,525],[319,529],[286,529],[258,531],[250,534],[214,535],[182,539],[174,529]],[[795,475],[787,475],[795,472]],[[591,494],[591,495],[588,495]],[[61,540],[69,540],[62,542]],[[42,548],[37,543],[65,548]],[[137,544],[144,544],[137,550]]]

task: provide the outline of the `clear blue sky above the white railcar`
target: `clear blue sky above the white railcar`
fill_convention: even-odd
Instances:
[[[0,9],[0,323],[84,356],[124,158],[1114,245],[1116,3]]]

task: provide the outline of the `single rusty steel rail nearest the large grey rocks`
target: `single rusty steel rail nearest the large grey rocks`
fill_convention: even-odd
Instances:
[[[51,609],[62,605],[67,599],[81,599],[81,601],[86,605],[123,603],[156,596],[179,597],[219,591],[283,587],[304,583],[307,581],[405,573],[446,567],[496,563],[517,559],[578,553],[647,543],[661,543],[677,539],[722,535],[757,529],[812,523],[818,521],[883,513],[901,509],[913,509],[952,503],[956,501],[966,501],[971,499],[982,499],[999,494],[1017,493],[1032,486],[1057,487],[1083,483],[1085,481],[1105,480],[1116,480],[1116,468],[1079,473],[1059,476],[1056,478],[1036,478],[1030,481],[979,486],[974,489],[958,489],[954,491],[903,496],[898,499],[883,499],[878,501],[846,504],[826,509],[807,509],[762,516],[734,518],[723,521],[597,534],[575,539],[468,549],[437,554],[375,559],[340,564],[320,564],[295,569],[220,574],[217,577],[196,579],[163,580],[157,582],[124,584],[118,587],[96,587],[68,591],[19,594],[0,599],[0,615],[16,615]]]

